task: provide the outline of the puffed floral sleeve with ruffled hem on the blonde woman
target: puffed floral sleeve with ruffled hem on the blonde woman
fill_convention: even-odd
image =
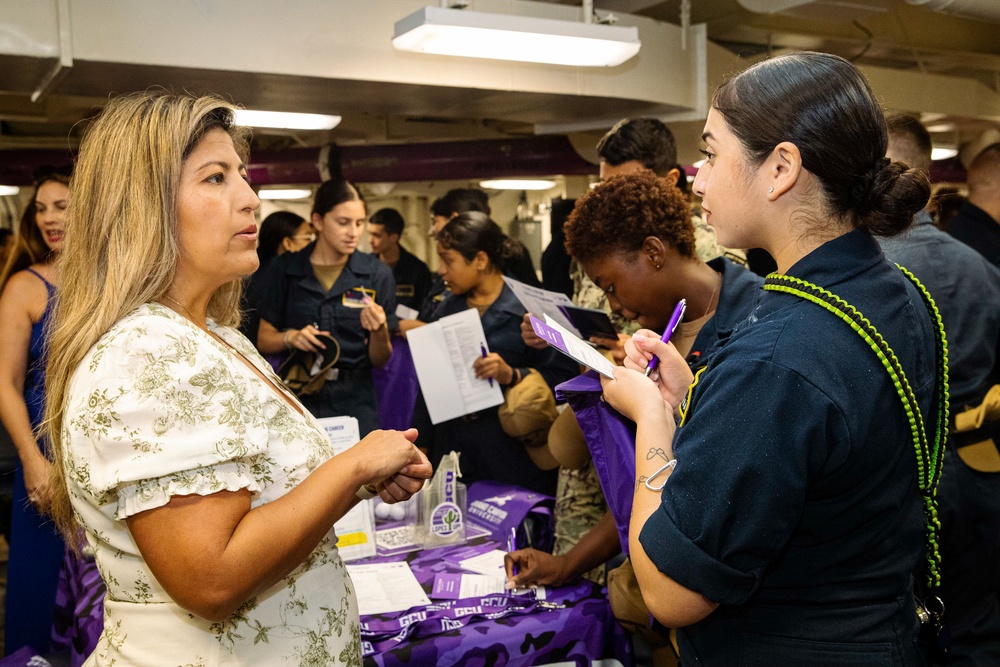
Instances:
[[[239,362],[164,317],[110,334],[70,384],[68,474],[119,520],[177,495],[259,493],[268,406]]]

